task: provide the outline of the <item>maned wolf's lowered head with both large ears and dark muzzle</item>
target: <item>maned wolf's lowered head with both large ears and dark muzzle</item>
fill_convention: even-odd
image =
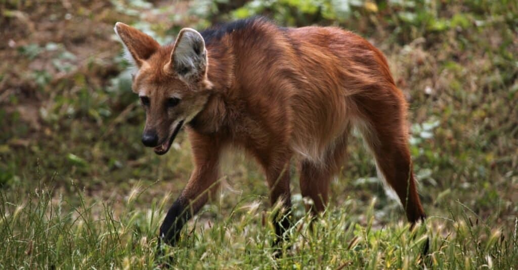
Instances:
[[[114,29],[138,69],[132,88],[146,111],[142,143],[163,155],[182,125],[207,102],[212,84],[204,39],[196,30],[183,28],[174,44],[160,46],[126,24],[118,22]]]

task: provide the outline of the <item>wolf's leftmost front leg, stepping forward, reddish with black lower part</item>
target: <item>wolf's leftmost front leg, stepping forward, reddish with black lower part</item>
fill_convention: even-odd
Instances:
[[[189,135],[194,170],[187,186],[169,208],[160,227],[159,239],[171,246],[178,241],[184,224],[202,208],[209,199],[209,194],[218,188],[220,143],[195,132],[190,132]]]

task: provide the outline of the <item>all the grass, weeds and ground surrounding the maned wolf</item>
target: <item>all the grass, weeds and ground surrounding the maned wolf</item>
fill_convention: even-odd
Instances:
[[[409,230],[355,136],[314,231],[293,177],[297,224],[281,258],[264,176],[234,155],[220,196],[166,250],[175,261],[155,260],[190,145],[180,134],[163,157],[141,145],[113,24],[170,42],[182,27],[254,14],[339,25],[386,54],[410,103],[424,226]],[[518,267],[515,1],[0,0],[0,33],[0,268]]]

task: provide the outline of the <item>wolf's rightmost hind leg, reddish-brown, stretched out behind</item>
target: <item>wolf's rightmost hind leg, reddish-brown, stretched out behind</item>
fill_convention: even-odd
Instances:
[[[406,102],[397,89],[359,97],[361,119],[356,127],[376,158],[379,176],[396,191],[408,221],[425,218],[408,146]]]

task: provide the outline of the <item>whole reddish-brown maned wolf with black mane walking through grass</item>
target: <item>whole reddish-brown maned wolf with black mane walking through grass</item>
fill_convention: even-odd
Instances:
[[[407,218],[425,218],[412,173],[407,103],[383,54],[337,27],[279,27],[264,18],[198,33],[183,28],[160,46],[137,29],[115,31],[138,68],[133,91],[146,111],[142,143],[167,153],[184,126],[194,171],[160,228],[174,245],[185,222],[217,188],[220,156],[237,146],[266,173],[270,201],[290,209],[290,160],[300,189],[323,211],[330,179],[339,172],[352,127],[363,135],[380,178],[395,190]],[[277,241],[290,227],[275,222]]]

